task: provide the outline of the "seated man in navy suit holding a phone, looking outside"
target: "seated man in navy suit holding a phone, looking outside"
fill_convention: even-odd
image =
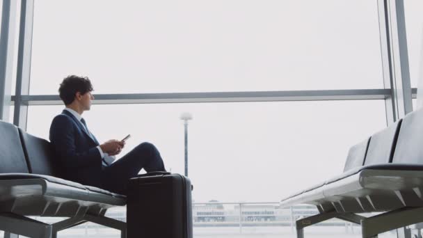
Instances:
[[[111,163],[125,141],[99,144],[81,118],[94,100],[88,77],[68,76],[58,91],[65,109],[51,122],[50,141],[65,170],[65,179],[125,195],[129,178],[141,168],[147,172],[166,171],[159,151],[151,143],[141,143]]]

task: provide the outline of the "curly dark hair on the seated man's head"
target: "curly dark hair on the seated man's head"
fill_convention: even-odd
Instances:
[[[70,75],[63,79],[60,88],[58,88],[58,93],[65,105],[69,105],[74,102],[77,92],[84,95],[92,90],[93,85],[88,77]]]

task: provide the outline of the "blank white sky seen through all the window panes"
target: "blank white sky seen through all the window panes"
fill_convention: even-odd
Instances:
[[[421,1],[406,0],[417,86]],[[383,88],[376,1],[35,1],[31,94],[56,94],[68,74],[94,93]],[[63,106],[31,106],[47,138]],[[100,139],[132,134],[183,173],[189,111],[193,199],[278,201],[341,173],[349,147],[383,129],[383,100],[94,105]]]

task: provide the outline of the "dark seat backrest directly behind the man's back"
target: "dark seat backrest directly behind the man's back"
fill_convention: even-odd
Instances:
[[[45,139],[35,137],[19,128],[22,145],[28,158],[29,172],[39,175],[60,176],[60,167],[54,160],[51,144]]]

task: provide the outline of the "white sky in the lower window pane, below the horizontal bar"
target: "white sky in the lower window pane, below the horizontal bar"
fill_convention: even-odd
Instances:
[[[30,106],[28,132],[48,138],[62,109]],[[183,174],[185,111],[193,114],[189,177],[196,202],[277,202],[341,173],[349,148],[386,126],[383,100],[93,105],[83,117],[99,141],[131,134],[122,154],[150,141],[166,168]]]

